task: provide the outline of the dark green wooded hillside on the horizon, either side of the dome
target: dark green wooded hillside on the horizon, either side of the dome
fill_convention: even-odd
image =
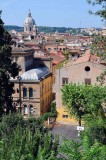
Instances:
[[[24,27],[14,26],[14,25],[5,25],[6,30],[16,30],[18,32],[22,32],[24,30]],[[38,32],[44,32],[44,33],[79,33],[80,28],[66,28],[66,27],[47,27],[47,26],[37,26]]]

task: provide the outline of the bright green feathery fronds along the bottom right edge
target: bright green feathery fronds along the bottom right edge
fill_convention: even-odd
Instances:
[[[80,142],[65,140],[60,147],[61,160],[105,160],[106,146],[97,141],[90,145],[89,141],[88,136]]]

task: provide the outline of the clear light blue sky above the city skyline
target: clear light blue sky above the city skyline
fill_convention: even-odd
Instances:
[[[5,25],[23,26],[31,10],[37,26],[90,28],[103,27],[102,19],[89,15],[87,0],[0,0]]]

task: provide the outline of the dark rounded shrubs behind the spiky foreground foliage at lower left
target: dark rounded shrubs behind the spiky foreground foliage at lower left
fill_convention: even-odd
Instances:
[[[31,117],[28,120],[24,120],[21,114],[4,115],[0,119],[0,136],[12,133],[18,125],[23,128],[28,125],[31,130],[34,130],[38,127],[42,129],[43,123],[40,118]]]

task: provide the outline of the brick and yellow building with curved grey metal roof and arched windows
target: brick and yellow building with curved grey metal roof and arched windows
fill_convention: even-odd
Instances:
[[[12,50],[13,61],[20,66],[19,76],[11,79],[13,101],[25,118],[50,111],[52,102],[52,73],[46,65],[35,67],[33,55],[33,49],[13,47]]]

